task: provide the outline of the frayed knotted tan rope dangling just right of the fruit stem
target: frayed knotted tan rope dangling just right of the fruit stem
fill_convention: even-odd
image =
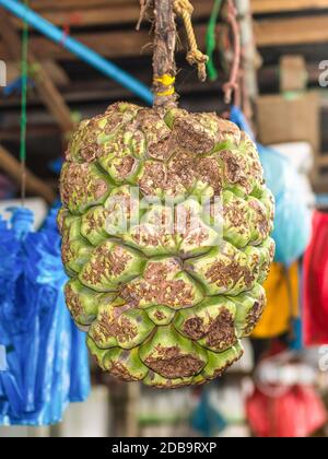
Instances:
[[[207,79],[207,63],[209,57],[204,55],[197,45],[197,39],[191,22],[191,16],[194,13],[194,7],[189,0],[174,0],[174,10],[183,19],[190,50],[187,54],[187,61],[190,66],[198,67],[198,78],[200,81],[206,81]]]

